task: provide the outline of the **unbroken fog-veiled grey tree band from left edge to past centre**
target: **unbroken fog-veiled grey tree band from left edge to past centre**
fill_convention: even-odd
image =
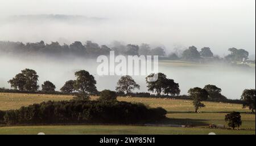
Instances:
[[[70,45],[60,45],[59,42],[45,44],[44,41],[35,43],[27,42],[27,44],[23,44],[22,42],[0,41],[0,51],[7,53],[73,54],[77,56],[95,57],[98,55],[109,55],[109,51],[114,50],[115,54],[123,55],[166,55],[164,49],[160,46],[151,49],[147,44],[142,44],[141,46],[134,44],[124,45],[120,42],[114,42],[111,46],[111,48],[106,45],[100,46],[92,41],[86,41],[85,44],[82,44],[80,41],[75,41]]]

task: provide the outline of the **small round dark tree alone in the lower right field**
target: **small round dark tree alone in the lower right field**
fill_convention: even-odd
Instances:
[[[239,112],[233,111],[225,116],[225,121],[228,122],[228,126],[234,128],[239,128],[242,125],[241,115]]]

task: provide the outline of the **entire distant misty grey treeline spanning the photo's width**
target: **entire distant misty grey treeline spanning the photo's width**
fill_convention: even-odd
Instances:
[[[169,59],[184,59],[188,61],[197,61],[202,58],[213,58],[214,54],[209,47],[201,48],[197,50],[195,46],[189,46],[185,49],[181,56],[176,53],[169,55],[164,51],[164,47],[158,46],[151,48],[148,44],[124,45],[121,42],[114,42],[111,47],[106,45],[98,45],[92,41],[86,41],[83,45],[80,41],[75,41],[70,45],[60,45],[59,42],[51,42],[51,44],[45,44],[44,41],[23,44],[22,42],[5,42],[0,41],[0,51],[7,53],[46,53],[50,55],[54,54],[74,54],[77,56],[96,57],[98,55],[108,55],[110,50],[114,50],[115,54],[123,55],[158,55],[159,57],[167,57]],[[224,59],[227,61],[243,61],[248,59],[249,53],[244,49],[230,48],[228,49],[230,54]]]

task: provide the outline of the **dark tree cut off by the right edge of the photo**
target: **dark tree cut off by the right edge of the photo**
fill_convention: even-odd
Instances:
[[[245,89],[242,93],[241,100],[243,108],[249,108],[252,113],[255,110],[255,89]]]

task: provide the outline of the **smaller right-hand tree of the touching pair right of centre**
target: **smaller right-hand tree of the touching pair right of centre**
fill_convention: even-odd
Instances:
[[[175,83],[172,79],[166,79],[164,81],[164,93],[167,94],[167,96],[169,94],[172,96],[180,95],[179,84]]]

